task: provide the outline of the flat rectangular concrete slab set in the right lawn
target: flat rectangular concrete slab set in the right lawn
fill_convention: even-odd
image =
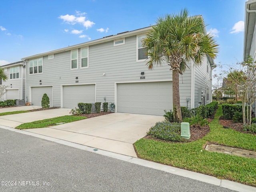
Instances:
[[[205,150],[217,152],[217,153],[224,153],[224,154],[228,154],[228,155],[236,155],[236,156],[240,156],[240,157],[256,159],[256,152],[250,151],[250,150],[226,147],[226,146],[215,145],[215,144],[206,145]]]

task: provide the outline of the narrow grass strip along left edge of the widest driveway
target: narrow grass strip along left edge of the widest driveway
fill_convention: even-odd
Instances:
[[[79,121],[86,119],[86,117],[82,116],[73,116],[73,115],[66,115],[66,116],[60,116],[50,119],[44,119],[39,121],[34,121],[30,123],[24,123],[16,127],[16,129],[32,129],[32,128],[43,128],[48,126],[55,126],[56,123],[70,123],[73,121]]]

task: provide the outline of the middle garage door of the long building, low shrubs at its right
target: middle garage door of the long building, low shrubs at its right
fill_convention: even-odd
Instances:
[[[95,102],[95,84],[63,86],[63,107],[77,108],[78,103]]]

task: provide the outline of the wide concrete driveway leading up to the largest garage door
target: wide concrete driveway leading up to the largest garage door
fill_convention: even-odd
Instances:
[[[133,143],[163,116],[112,113],[48,128],[27,129],[52,138],[137,157]]]

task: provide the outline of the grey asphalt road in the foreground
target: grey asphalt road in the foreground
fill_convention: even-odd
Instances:
[[[1,192],[234,192],[0,128]]]

